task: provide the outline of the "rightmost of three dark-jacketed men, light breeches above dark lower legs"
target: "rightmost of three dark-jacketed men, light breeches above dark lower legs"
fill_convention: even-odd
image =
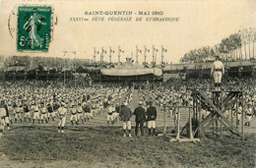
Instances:
[[[153,136],[155,136],[157,109],[156,107],[153,106],[153,101],[149,101],[149,105],[150,107],[147,108],[149,136],[151,136],[152,129],[153,129]]]

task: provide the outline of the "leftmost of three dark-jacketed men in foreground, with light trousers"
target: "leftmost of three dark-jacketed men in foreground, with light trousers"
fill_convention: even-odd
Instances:
[[[127,107],[127,105],[128,103],[124,102],[120,112],[120,117],[121,117],[121,120],[123,121],[123,132],[124,132],[123,137],[126,137],[126,128],[128,128],[129,137],[132,137],[131,135],[132,125],[131,125],[130,119],[133,116],[133,113],[131,109]]]

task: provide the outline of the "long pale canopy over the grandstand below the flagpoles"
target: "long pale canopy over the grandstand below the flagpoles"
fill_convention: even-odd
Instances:
[[[160,68],[149,68],[149,69],[101,69],[100,72],[104,76],[143,76],[143,75],[153,75],[161,76],[162,71]]]

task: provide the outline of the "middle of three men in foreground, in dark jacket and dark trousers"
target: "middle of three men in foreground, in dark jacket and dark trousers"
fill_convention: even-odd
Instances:
[[[138,136],[139,127],[141,130],[141,136],[144,136],[143,124],[146,121],[145,109],[142,107],[142,104],[143,104],[142,101],[139,101],[138,104],[139,104],[139,107],[137,107],[133,112],[133,115],[135,115],[135,122],[136,122],[135,136]]]

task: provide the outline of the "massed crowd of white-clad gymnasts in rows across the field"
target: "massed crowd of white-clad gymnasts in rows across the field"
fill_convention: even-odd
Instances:
[[[23,122],[27,118],[27,122],[32,121],[32,124],[35,121],[38,121],[38,123],[45,121],[47,123],[50,117],[54,120],[55,115],[52,113],[56,113],[58,108],[65,104],[71,116],[73,115],[72,108],[76,108],[74,114],[77,117],[71,118],[71,121],[74,120],[79,124],[79,122],[84,123],[90,118],[93,119],[101,112],[106,112],[105,109],[109,106],[112,107],[112,110],[108,111],[109,115],[120,112],[117,109],[120,108],[121,104],[132,102],[134,85],[137,85],[143,108],[147,109],[149,102],[154,102],[155,105],[160,106],[160,110],[163,110],[164,105],[191,105],[193,90],[203,90],[207,95],[211,95],[213,90],[211,80],[172,80],[168,83],[156,82],[154,86],[149,82],[145,84],[99,83],[74,86],[73,80],[67,80],[65,83],[64,81],[27,80],[1,84],[0,99],[1,105],[7,106],[9,119],[13,122]],[[251,108],[251,115],[255,114],[255,81],[252,79],[229,79],[224,81],[222,89],[225,91],[242,91],[245,109]],[[77,115],[79,113],[83,115]],[[86,113],[90,113],[90,115]],[[113,116],[115,118],[108,118],[107,122],[117,120],[118,115]]]

